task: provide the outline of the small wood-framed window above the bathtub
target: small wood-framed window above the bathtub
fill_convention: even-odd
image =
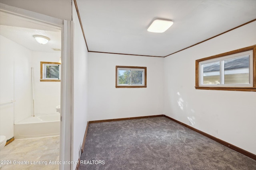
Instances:
[[[60,82],[60,63],[40,62],[40,82]]]

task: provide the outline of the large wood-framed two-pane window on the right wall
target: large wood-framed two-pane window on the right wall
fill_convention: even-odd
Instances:
[[[256,91],[256,46],[196,61],[196,89]]]

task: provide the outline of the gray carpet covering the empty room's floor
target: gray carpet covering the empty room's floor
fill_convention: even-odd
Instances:
[[[91,123],[80,158],[79,170],[256,170],[256,160],[166,117]]]

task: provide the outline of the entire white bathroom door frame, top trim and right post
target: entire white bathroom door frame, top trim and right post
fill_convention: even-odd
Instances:
[[[72,55],[73,27],[72,21],[60,20],[36,12],[8,6],[0,3],[0,12],[32,20],[35,23],[51,25],[62,30],[61,49],[61,118],[60,118],[60,161],[71,160],[71,111],[72,111]],[[70,164],[60,164],[60,170],[70,170]]]

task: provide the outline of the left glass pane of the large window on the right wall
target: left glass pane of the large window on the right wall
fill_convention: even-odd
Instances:
[[[220,61],[202,64],[202,84],[220,84]]]

